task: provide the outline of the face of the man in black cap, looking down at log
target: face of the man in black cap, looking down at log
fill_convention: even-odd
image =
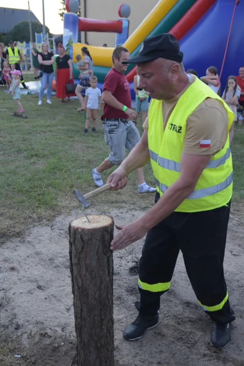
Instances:
[[[140,76],[139,87],[149,93],[151,98],[168,100],[173,98],[173,90],[179,74],[179,65],[164,58],[137,65]]]

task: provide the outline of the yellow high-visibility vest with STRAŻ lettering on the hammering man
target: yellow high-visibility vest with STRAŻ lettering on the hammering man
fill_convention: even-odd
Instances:
[[[228,132],[234,113],[227,104],[198,78],[179,98],[167,126],[163,128],[162,101],[151,100],[148,112],[148,148],[157,191],[162,196],[180,176],[180,159],[186,135],[187,119],[206,98],[218,99],[228,113]],[[213,120],[212,123],[215,123]],[[199,141],[200,143],[200,141]],[[204,144],[208,141],[203,142]],[[224,147],[211,157],[195,190],[175,211],[197,212],[221,207],[232,196],[232,157],[229,134]]]

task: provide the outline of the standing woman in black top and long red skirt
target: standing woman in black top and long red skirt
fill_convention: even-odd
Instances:
[[[60,103],[64,103],[65,98],[70,102],[70,97],[75,94],[66,94],[65,85],[74,83],[72,59],[65,53],[62,43],[58,43],[57,50],[59,55],[56,58],[55,68],[56,98],[61,99]]]

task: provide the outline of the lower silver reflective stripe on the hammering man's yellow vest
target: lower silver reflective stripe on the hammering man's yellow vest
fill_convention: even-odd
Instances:
[[[227,188],[231,185],[232,180],[233,180],[232,176],[233,176],[233,172],[223,182],[219,183],[218,185],[195,190],[186,199],[203,198],[203,197],[207,197],[207,196],[216,194],[218,192],[221,192],[225,188]],[[169,188],[169,187],[165,186],[163,183],[161,183],[157,178],[155,178],[155,182],[162,193],[165,193],[166,190]]]

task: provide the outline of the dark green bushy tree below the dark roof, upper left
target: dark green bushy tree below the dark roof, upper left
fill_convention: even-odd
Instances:
[[[50,35],[49,29],[46,27],[46,32]],[[35,33],[42,33],[42,24],[37,21],[32,21],[32,39],[35,41]],[[16,24],[11,31],[6,35],[6,42],[10,40],[19,42],[29,42],[31,37],[29,36],[29,22],[24,20]]]

